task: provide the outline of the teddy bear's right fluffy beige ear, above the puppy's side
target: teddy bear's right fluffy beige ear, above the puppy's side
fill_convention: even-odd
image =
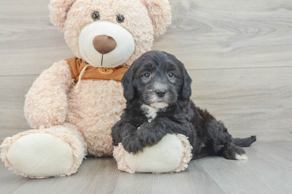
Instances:
[[[148,16],[152,20],[154,37],[162,35],[167,25],[171,24],[171,7],[168,0],[141,0],[147,7]]]

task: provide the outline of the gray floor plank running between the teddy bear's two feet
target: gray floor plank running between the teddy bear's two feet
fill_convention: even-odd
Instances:
[[[77,173],[66,177],[29,179],[12,193],[113,193],[120,171],[113,157],[88,157]]]

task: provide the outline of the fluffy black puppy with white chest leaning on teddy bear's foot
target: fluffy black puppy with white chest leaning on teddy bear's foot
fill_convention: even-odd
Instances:
[[[220,155],[227,159],[247,159],[241,147],[256,141],[232,138],[226,127],[207,110],[190,100],[190,78],[184,64],[175,56],[149,51],[133,62],[123,76],[127,107],[112,128],[114,146],[122,142],[131,153],[157,144],[167,133],[189,138],[192,159]]]

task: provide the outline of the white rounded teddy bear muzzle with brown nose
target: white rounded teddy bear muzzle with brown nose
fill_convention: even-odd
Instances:
[[[135,50],[132,34],[110,21],[88,24],[81,30],[78,42],[81,56],[93,67],[117,67]]]

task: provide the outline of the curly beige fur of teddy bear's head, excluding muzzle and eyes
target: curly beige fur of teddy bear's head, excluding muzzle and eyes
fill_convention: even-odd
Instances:
[[[167,0],[51,0],[49,10],[51,22],[64,32],[74,55],[84,61],[86,59],[79,52],[78,37],[86,25],[94,22],[92,12],[99,11],[99,21],[114,23],[116,15],[123,14],[125,21],[120,25],[133,35],[135,41],[135,51],[123,66],[130,66],[136,58],[151,50],[153,38],[164,34],[171,22]]]

